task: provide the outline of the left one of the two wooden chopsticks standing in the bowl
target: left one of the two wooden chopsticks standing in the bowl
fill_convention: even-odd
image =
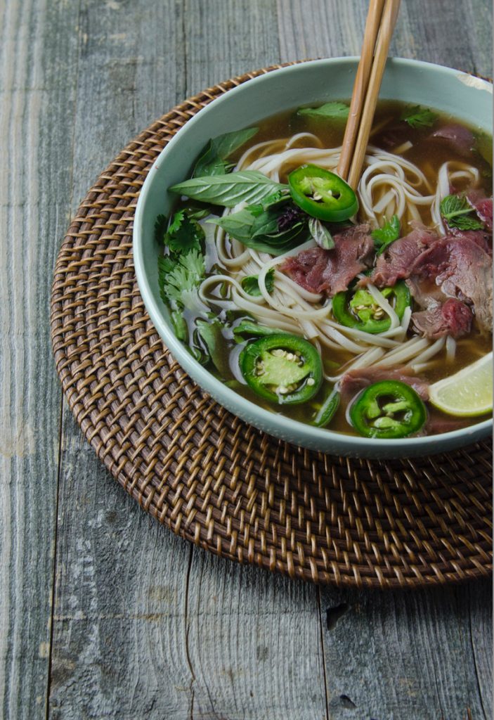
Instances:
[[[365,21],[364,40],[360,53],[360,62],[355,76],[355,84],[352,92],[352,102],[347,120],[347,127],[344,131],[342,154],[339,156],[337,173],[341,178],[347,180],[352,162],[352,155],[357,140],[357,132],[364,107],[365,95],[369,84],[372,60],[374,58],[375,43],[378,39],[378,32],[383,15],[385,0],[370,0],[367,20]]]

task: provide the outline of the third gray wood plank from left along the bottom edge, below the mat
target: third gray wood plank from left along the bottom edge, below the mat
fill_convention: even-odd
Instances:
[[[194,549],[193,718],[326,718],[316,588]]]

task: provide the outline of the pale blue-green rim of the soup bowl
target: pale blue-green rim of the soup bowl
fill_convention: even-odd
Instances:
[[[178,130],[176,135],[174,135],[167,145],[165,145],[165,148],[163,148],[157,158],[155,158],[155,161],[153,161],[137,199],[134,226],[132,230],[132,253],[134,257],[135,273],[137,276],[137,285],[146,310],[150,315],[157,333],[161,336],[163,341],[165,341],[166,346],[180,366],[193,377],[193,381],[196,382],[202,390],[209,392],[220,405],[223,405],[234,415],[237,415],[239,418],[247,423],[250,423],[252,426],[260,427],[262,429],[266,428],[266,426],[275,426],[276,433],[273,433],[270,430],[265,430],[265,432],[277,438],[287,438],[296,435],[297,444],[304,447],[311,447],[313,449],[316,448],[316,446],[319,446],[319,451],[321,452],[334,453],[333,450],[321,449],[324,446],[327,447],[332,445],[335,448],[337,447],[338,454],[352,454],[358,451],[358,454],[362,457],[372,457],[376,456],[376,454],[384,456],[385,452],[388,451],[389,454],[390,450],[396,451],[397,456],[398,454],[399,456],[417,454],[418,449],[423,449],[424,454],[434,454],[443,451],[443,445],[449,444],[449,446],[451,446],[455,439],[462,441],[459,442],[460,446],[467,444],[469,441],[474,442],[482,437],[488,436],[493,420],[482,420],[480,423],[475,423],[474,425],[467,426],[466,428],[459,428],[457,430],[446,433],[438,433],[436,435],[418,436],[413,438],[389,438],[386,440],[381,439],[378,446],[376,446],[375,438],[365,438],[337,431],[326,430],[325,428],[316,428],[314,426],[309,426],[306,423],[302,423],[300,420],[293,420],[292,418],[288,418],[280,413],[266,410],[260,405],[256,405],[255,402],[247,400],[247,398],[239,395],[239,393],[235,390],[225,386],[219,379],[214,377],[209,370],[207,370],[203,365],[196,361],[191,354],[188,353],[185,346],[183,346],[183,343],[176,338],[173,330],[168,327],[165,318],[163,318],[162,309],[160,308],[160,305],[155,302],[150,282],[147,279],[147,274],[145,273],[145,256],[143,252],[143,243],[141,242],[141,228],[145,201],[147,194],[150,192],[155,171],[163,162],[163,156],[166,157],[170,148],[173,148],[180,142],[183,137],[183,131],[185,131],[186,128],[190,130],[190,128],[196,125],[197,122],[201,122],[203,114],[208,112],[212,106],[218,107],[218,104],[223,102],[224,99],[232,99],[232,96],[244,91],[246,86],[252,87],[252,83],[260,85],[273,82],[273,76],[279,76],[281,73],[290,74],[294,71],[301,71],[301,68],[318,64],[331,65],[337,63],[348,63],[356,65],[359,59],[360,58],[356,55],[337,58],[320,58],[318,60],[302,60],[298,63],[276,68],[273,71],[256,76],[232,89],[229,89],[223,95],[215,98],[211,103],[201,108],[193,117],[191,117],[190,120],[180,127],[180,130]],[[435,73],[447,76],[452,76],[452,74],[454,74],[457,78],[461,76],[475,78],[475,86],[478,89],[485,89],[490,91],[491,94],[493,91],[492,84],[483,78],[478,78],[477,76],[472,75],[472,73],[466,73],[465,71],[459,71],[454,68],[438,65],[436,63],[429,63],[424,60],[413,60],[410,58],[389,58],[388,63],[392,63],[393,66],[396,65],[398,67],[402,66],[406,68],[407,66],[411,66],[413,68],[421,68],[424,71],[432,70]],[[226,400],[217,400],[219,395],[224,396]],[[245,419],[246,416],[252,417],[252,415],[256,416],[255,421]],[[469,435],[475,437],[465,441],[465,438]],[[438,444],[440,447],[435,447]]]

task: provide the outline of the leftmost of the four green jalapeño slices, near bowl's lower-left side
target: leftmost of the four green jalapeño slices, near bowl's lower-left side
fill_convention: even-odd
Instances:
[[[248,343],[239,357],[242,375],[257,395],[278,405],[298,405],[322,382],[319,353],[303,338],[275,333]]]

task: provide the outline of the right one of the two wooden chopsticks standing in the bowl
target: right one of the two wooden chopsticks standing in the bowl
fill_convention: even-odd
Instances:
[[[355,141],[355,149],[352,156],[352,163],[348,174],[348,184],[356,189],[362,174],[362,166],[364,164],[367,143],[369,141],[370,130],[372,129],[372,121],[376,105],[378,104],[378,96],[381,82],[383,81],[386,60],[388,59],[389,46],[393,30],[395,29],[398,11],[400,9],[400,0],[386,0],[383,15],[380,22],[380,30],[378,42],[375,47],[374,60],[370,71],[369,84],[365,95],[362,116],[360,117],[360,125]]]

